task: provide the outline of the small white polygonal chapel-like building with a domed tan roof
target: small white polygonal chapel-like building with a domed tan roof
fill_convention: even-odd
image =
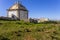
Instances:
[[[21,3],[17,2],[7,10],[7,17],[27,21],[28,10]]]

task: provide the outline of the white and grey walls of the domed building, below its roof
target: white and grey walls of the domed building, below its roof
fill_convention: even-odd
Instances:
[[[20,13],[20,14],[18,14]],[[20,20],[27,20],[28,19],[28,12],[27,11],[9,11],[8,17],[12,18],[12,14],[15,16],[14,18],[19,18]]]

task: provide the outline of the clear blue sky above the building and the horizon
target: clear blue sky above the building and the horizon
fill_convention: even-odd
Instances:
[[[49,18],[60,20],[60,0],[21,0],[29,10],[29,18]],[[10,6],[16,0],[0,0],[0,16],[6,16]]]

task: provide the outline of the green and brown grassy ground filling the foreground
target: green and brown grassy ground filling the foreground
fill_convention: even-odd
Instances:
[[[60,24],[0,20],[0,40],[60,40]]]

